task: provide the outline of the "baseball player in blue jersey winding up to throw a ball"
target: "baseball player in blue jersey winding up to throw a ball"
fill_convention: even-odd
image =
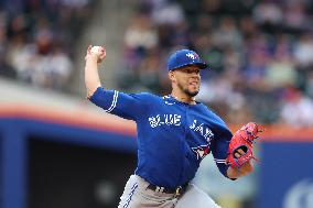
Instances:
[[[237,141],[255,139],[256,125],[249,123],[233,135],[218,116],[195,100],[199,72],[206,69],[207,64],[194,51],[180,50],[170,56],[168,70],[172,92],[164,97],[105,89],[98,75],[98,64],[105,57],[104,47],[88,47],[85,57],[87,97],[106,112],[136,121],[138,131],[138,165],[118,207],[219,207],[191,180],[201,161],[211,152],[225,177],[236,179],[252,172],[250,145],[239,142],[229,158],[229,141],[235,135]]]

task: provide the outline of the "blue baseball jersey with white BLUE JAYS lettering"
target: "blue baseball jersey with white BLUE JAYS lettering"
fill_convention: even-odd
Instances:
[[[99,87],[89,98],[105,111],[137,122],[136,174],[151,184],[175,188],[194,178],[211,152],[219,172],[233,134],[205,105],[188,105],[172,96],[125,94]]]

